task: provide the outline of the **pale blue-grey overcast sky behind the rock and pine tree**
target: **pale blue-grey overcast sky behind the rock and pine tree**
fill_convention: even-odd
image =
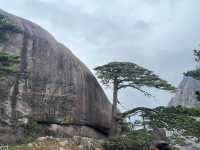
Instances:
[[[55,36],[91,70],[110,61],[131,61],[178,86],[195,67],[192,50],[200,43],[199,0],[0,0],[0,8],[29,19]],[[104,88],[105,89],[105,88]],[[111,91],[105,89],[111,99]],[[127,89],[125,107],[167,105]]]

